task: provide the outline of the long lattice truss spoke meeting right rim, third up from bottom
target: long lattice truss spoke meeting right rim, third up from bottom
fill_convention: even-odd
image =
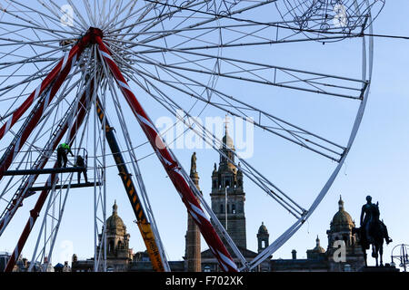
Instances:
[[[115,43],[114,39],[108,38],[105,41],[109,43]],[[115,45],[115,44],[114,44]],[[208,53],[198,53],[193,51],[185,51],[183,49],[175,49],[168,47],[160,47],[151,44],[141,44],[140,46],[146,46],[149,48],[154,48],[159,52],[170,52],[173,53],[176,57],[183,59],[185,61],[190,61],[195,64],[195,60],[189,59],[189,55],[205,57],[209,59],[217,59],[217,61],[224,62],[228,65],[230,70],[224,69],[222,71],[211,71],[211,70],[198,70],[192,66],[181,66],[181,65],[172,65],[172,63],[160,63],[153,58],[149,58],[148,62],[156,63],[157,65],[166,66],[169,68],[174,68],[177,70],[182,70],[192,73],[204,73],[214,76],[221,76],[229,79],[240,80],[244,82],[256,82],[264,85],[271,85],[276,87],[282,87],[284,89],[291,89],[304,92],[313,92],[317,94],[324,94],[334,97],[341,97],[352,100],[362,100],[364,89],[366,88],[366,82],[363,80],[353,79],[350,77],[337,76],[334,74],[327,73],[316,73],[305,70],[286,68],[276,65],[270,65],[265,63],[251,62],[248,60],[234,59],[231,57],[225,57],[222,55],[213,55]],[[118,47],[118,46],[116,46]],[[133,54],[139,59],[146,61],[147,56],[143,57],[140,52],[135,52],[134,50],[128,50],[128,53]],[[149,52],[153,53],[153,52]],[[248,66],[248,67],[244,67]],[[254,73],[254,72],[262,72]],[[279,80],[281,77],[281,81]],[[317,77],[321,77],[322,80],[327,82],[313,82]],[[290,85],[294,83],[300,83],[300,85]],[[328,91],[327,88],[332,88],[334,91]],[[345,94],[345,91],[348,94]],[[358,94],[356,94],[358,92]],[[354,93],[354,94],[352,94]]]

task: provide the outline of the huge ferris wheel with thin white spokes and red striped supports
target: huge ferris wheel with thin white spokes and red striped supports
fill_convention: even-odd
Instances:
[[[303,226],[344,164],[368,100],[372,24],[383,5],[0,0],[0,243],[17,214],[27,218],[6,271],[30,235],[37,237],[30,270],[42,257],[51,259],[75,189],[94,193],[94,269],[106,271],[106,233],[99,233],[105,228],[109,168],[119,170],[154,269],[169,271],[144,179],[152,172],[140,166],[153,159],[162,164],[164,182],[179,193],[220,268],[259,266]],[[277,160],[294,173],[291,179],[266,172],[265,154],[246,159],[226,148],[195,118],[226,113],[251,122],[254,140],[274,147]],[[173,140],[165,140],[166,132],[153,121],[166,114],[186,128]],[[283,232],[254,260],[244,258],[171,149],[187,132],[284,209],[274,211],[275,218],[290,214]],[[72,167],[60,166],[55,152],[63,142],[87,164],[68,160]],[[142,156],[141,148],[150,151]],[[297,170],[314,160],[323,169]],[[77,183],[76,173],[85,167],[89,179]],[[324,176],[315,180],[319,188],[291,192],[297,182],[314,179],[315,174],[306,178],[314,170]],[[297,180],[295,173],[303,177]],[[29,198],[36,200],[33,208],[25,206]],[[256,193],[247,197],[252,198],[256,202]],[[41,225],[37,232],[35,223]]]

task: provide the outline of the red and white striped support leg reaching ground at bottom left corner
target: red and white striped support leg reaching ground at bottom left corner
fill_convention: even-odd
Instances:
[[[75,118],[75,122],[71,126],[71,131],[69,132],[68,143],[71,145],[75,139],[75,133],[78,128],[81,127],[84,119],[86,111],[89,111],[92,99],[92,92],[94,90],[94,79],[90,80],[90,90],[88,92],[84,92],[80,102],[78,103],[77,107],[77,116]],[[62,128],[61,131],[58,132],[57,140],[55,140],[55,144],[58,144],[62,137],[65,135],[65,131],[69,128],[68,122],[65,123],[65,126]],[[57,167],[57,163],[55,162],[54,168]],[[45,187],[52,187],[56,182],[58,182],[58,174],[50,174],[50,177],[45,182]],[[26,185],[28,186],[28,185]],[[5,272],[12,272],[13,268],[15,267],[15,262],[17,261],[20,253],[22,252],[23,248],[25,247],[25,242],[27,241],[31,230],[35,226],[35,221],[40,215],[40,212],[45,204],[45,200],[48,197],[49,189],[45,189],[41,192],[40,196],[35,203],[35,208],[30,210],[30,218],[28,218],[23,233],[21,234],[20,238],[18,239],[17,245],[15,246],[15,250],[13,251],[10,260],[5,267]]]

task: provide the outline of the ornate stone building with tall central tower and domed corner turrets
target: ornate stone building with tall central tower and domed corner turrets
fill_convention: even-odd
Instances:
[[[234,143],[229,136],[227,128],[223,138],[218,167],[214,163],[212,172],[212,190],[210,193],[211,207],[227,233],[232,237],[235,245],[247,261],[251,261],[258,253],[269,246],[269,233],[264,222],[258,229],[257,252],[247,248],[246,223],[244,213],[244,182],[243,172],[234,165]],[[190,177],[200,191],[199,174],[196,170],[196,154],[192,156]],[[187,230],[185,235],[185,256],[182,261],[169,261],[172,271],[189,272],[216,272],[221,271],[212,252],[207,249],[200,252],[200,231],[194,219],[187,215]],[[315,240],[315,247],[307,250],[306,258],[298,259],[293,250],[291,259],[266,259],[254,271],[358,271],[364,266],[364,255],[359,246],[359,240],[352,234],[354,221],[344,210],[342,198],[338,201],[338,211],[331,220],[330,229],[327,230],[328,248],[325,251],[320,245],[319,237]],[[117,215],[116,203],[113,214],[106,220],[107,228],[107,267],[110,271],[153,271],[149,256],[146,251],[137,252],[135,255],[129,249],[129,234],[126,233],[124,222]],[[100,236],[101,238],[101,236]],[[334,253],[337,245],[345,246],[346,260],[335,261]],[[101,243],[100,243],[101,244]],[[227,245],[224,243],[224,245]],[[239,263],[231,248],[227,247],[234,257],[234,262]],[[73,271],[90,270],[94,266],[93,259],[77,261],[73,258]]]

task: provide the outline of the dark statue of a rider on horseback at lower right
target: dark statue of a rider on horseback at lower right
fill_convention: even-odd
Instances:
[[[353,235],[357,234],[360,239],[361,247],[364,252],[365,266],[367,265],[366,250],[372,246],[372,256],[375,258],[376,266],[378,265],[378,257],[380,258],[380,266],[384,266],[382,256],[384,254],[384,239],[386,244],[392,242],[388,235],[387,227],[384,222],[379,219],[379,202],[372,203],[370,196],[366,197],[367,203],[364,204],[361,211],[361,227],[353,228]]]

